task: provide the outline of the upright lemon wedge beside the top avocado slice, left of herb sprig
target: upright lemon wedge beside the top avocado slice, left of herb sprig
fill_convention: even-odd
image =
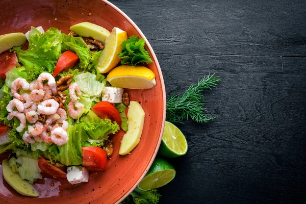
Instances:
[[[121,44],[127,40],[127,34],[118,28],[114,28],[111,35],[106,39],[105,47],[96,64],[100,73],[107,73],[120,62],[117,56],[122,52]]]

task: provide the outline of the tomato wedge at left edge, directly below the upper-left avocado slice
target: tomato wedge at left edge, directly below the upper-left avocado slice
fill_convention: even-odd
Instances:
[[[0,77],[5,79],[6,72],[16,67],[18,63],[16,52],[10,53],[6,51],[0,55]]]

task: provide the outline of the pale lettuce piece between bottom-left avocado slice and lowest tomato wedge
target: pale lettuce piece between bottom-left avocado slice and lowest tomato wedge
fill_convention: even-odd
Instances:
[[[37,179],[42,179],[41,170],[38,167],[38,159],[19,157],[16,162],[21,165],[18,167],[21,179],[28,180],[30,184],[33,184]]]

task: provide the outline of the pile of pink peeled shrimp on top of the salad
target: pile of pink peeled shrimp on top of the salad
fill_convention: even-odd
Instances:
[[[43,81],[47,81],[47,83],[43,84]],[[22,89],[24,93],[19,94],[19,89]],[[64,109],[59,108],[59,103],[52,98],[57,94],[57,85],[53,75],[43,72],[37,80],[31,83],[17,78],[11,85],[11,92],[14,99],[6,107],[9,112],[7,118],[11,120],[17,117],[20,120],[20,125],[16,128],[19,133],[27,128],[22,136],[26,144],[46,142],[61,146],[68,142],[67,113]],[[75,92],[79,96],[82,94],[77,83],[69,86],[71,100],[68,104],[69,115],[77,119],[84,110],[84,105],[79,103],[79,97]],[[44,124],[38,121],[40,114],[47,116]],[[32,125],[26,127],[27,121]]]

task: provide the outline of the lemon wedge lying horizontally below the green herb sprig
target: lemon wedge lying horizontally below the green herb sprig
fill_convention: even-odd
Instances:
[[[154,72],[144,66],[118,66],[108,74],[107,81],[127,89],[149,89],[156,85]]]

